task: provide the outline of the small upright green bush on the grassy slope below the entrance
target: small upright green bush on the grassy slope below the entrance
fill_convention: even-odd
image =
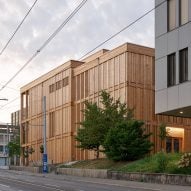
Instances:
[[[164,152],[157,154],[157,167],[156,172],[165,172],[169,163],[168,155]]]

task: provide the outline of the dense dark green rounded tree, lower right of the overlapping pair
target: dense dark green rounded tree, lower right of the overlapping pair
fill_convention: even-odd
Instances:
[[[104,142],[106,156],[115,161],[131,161],[149,153],[153,144],[142,125],[142,121],[129,119],[110,128]]]

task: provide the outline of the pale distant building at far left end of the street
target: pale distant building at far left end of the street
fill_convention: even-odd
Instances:
[[[7,144],[12,139],[12,126],[0,124],[0,168],[9,165]]]

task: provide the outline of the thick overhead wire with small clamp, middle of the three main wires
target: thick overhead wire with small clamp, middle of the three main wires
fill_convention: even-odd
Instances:
[[[42,46],[30,57],[30,59],[1,87],[2,91],[13,79],[50,43],[50,41],[63,29],[63,27],[73,18],[73,16],[85,5],[88,0],[83,0],[64,22],[49,36]]]

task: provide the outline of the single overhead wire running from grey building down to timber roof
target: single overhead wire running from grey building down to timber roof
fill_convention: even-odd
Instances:
[[[139,18],[137,18],[136,20],[134,20],[133,22],[131,22],[130,24],[128,24],[127,26],[125,26],[124,28],[122,28],[120,31],[118,31],[117,33],[113,34],[112,36],[110,36],[108,39],[106,39],[105,41],[101,42],[100,44],[98,44],[95,48],[93,48],[92,50],[88,51],[87,53],[85,53],[82,57],[79,58],[79,60],[82,60],[84,57],[88,56],[90,53],[92,53],[93,51],[95,51],[97,48],[101,47],[102,45],[104,45],[105,43],[107,43],[108,41],[110,41],[111,39],[113,39],[114,37],[116,37],[117,35],[119,35],[120,33],[122,33],[123,31],[127,30],[128,28],[130,28],[132,25],[134,25],[135,23],[137,23],[138,21],[140,21],[141,19],[143,19],[145,16],[147,16],[149,13],[151,13],[152,11],[154,11],[155,9],[157,9],[159,6],[161,6],[163,3],[165,3],[165,1],[162,1],[161,3],[159,3],[158,5],[156,5],[154,8],[152,8],[151,10],[147,11],[146,13],[144,13],[142,16],[140,16]]]

